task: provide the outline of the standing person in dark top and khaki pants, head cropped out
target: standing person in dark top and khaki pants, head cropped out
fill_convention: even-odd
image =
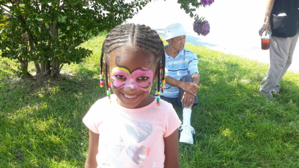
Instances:
[[[260,93],[273,98],[272,91],[279,93],[282,79],[292,63],[298,41],[299,0],[268,0],[265,21],[259,34],[272,31],[270,41],[270,68],[260,85]]]

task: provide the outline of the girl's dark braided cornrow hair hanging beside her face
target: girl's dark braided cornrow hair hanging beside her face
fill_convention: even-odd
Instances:
[[[139,48],[152,53],[158,62],[158,69],[162,65],[162,75],[158,74],[157,91],[160,91],[160,80],[165,79],[165,53],[163,42],[158,33],[146,25],[121,24],[113,28],[106,36],[102,45],[100,60],[100,73],[103,71],[103,57],[106,55],[105,78],[108,90],[108,59],[109,53],[124,45],[136,45]],[[159,71],[158,71],[159,72]],[[162,78],[162,79],[160,79]]]

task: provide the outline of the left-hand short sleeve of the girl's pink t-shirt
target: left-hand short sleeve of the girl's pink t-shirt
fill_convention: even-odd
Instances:
[[[84,123],[84,125],[91,130],[92,132],[99,134],[98,131],[98,126],[101,123],[101,121],[99,121],[100,118],[100,100],[96,101],[91,108],[89,109],[89,111],[86,113],[86,115],[83,117],[82,121]]]

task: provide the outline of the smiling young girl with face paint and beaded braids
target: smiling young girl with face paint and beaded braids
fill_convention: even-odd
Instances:
[[[115,27],[103,43],[100,64],[108,98],[96,101],[83,118],[89,129],[85,168],[179,168],[181,122],[171,104],[149,94],[155,78],[158,92],[165,81],[156,31],[139,24]]]

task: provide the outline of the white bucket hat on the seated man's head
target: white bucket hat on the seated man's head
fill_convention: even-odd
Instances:
[[[181,23],[174,23],[174,24],[168,25],[164,29],[164,33],[165,33],[164,41],[168,40],[170,38],[173,38],[173,37],[187,34],[187,32],[185,31],[185,29]]]

